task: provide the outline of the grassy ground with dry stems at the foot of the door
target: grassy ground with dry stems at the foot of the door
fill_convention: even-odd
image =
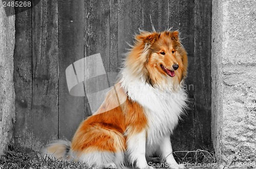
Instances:
[[[183,152],[184,153],[184,152]],[[197,150],[189,153],[194,153],[194,157],[179,157],[177,161],[189,162],[186,164],[186,168],[196,169],[215,169],[215,158],[213,154],[203,150]],[[186,153],[188,154],[188,153]],[[157,163],[158,158],[151,158],[151,162],[154,163],[153,166],[156,168],[162,168],[162,166]],[[203,166],[205,165],[205,166]],[[199,167],[201,166],[201,167]],[[207,167],[208,166],[208,167]],[[211,166],[211,167],[209,167]],[[44,159],[37,152],[25,152],[24,150],[17,150],[11,148],[7,151],[5,155],[0,158],[0,169],[13,169],[13,168],[28,168],[28,169],[48,169],[48,168],[67,168],[67,169],[79,169],[79,168],[89,168],[80,162],[66,162],[58,161],[52,159]]]

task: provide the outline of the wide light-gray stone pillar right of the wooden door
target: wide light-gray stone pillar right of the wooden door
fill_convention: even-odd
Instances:
[[[212,140],[224,165],[256,159],[255,30],[255,0],[212,0]]]

